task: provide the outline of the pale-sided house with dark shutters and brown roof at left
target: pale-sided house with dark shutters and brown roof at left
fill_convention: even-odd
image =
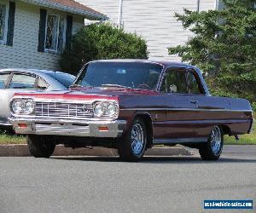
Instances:
[[[0,0],[0,68],[60,69],[61,50],[84,19],[107,16],[73,0]]]

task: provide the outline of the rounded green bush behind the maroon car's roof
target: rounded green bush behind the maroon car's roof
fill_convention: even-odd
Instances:
[[[148,59],[147,43],[110,24],[92,24],[77,32],[61,55],[61,69],[77,73],[90,60]]]

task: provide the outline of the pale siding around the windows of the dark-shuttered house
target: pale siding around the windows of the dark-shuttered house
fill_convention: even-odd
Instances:
[[[61,14],[60,11],[51,11]],[[60,55],[38,52],[39,19],[38,6],[16,1],[14,44],[12,47],[0,44],[0,68],[60,70],[58,65]],[[73,32],[83,25],[83,17],[73,17]]]

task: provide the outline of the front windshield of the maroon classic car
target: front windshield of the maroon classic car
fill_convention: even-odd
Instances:
[[[146,62],[92,62],[84,67],[84,71],[74,85],[156,89],[162,69],[159,64]]]

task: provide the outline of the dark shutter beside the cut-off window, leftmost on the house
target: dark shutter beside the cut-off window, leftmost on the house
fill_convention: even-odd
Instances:
[[[9,19],[6,45],[13,46],[15,31],[15,3],[9,2]]]

